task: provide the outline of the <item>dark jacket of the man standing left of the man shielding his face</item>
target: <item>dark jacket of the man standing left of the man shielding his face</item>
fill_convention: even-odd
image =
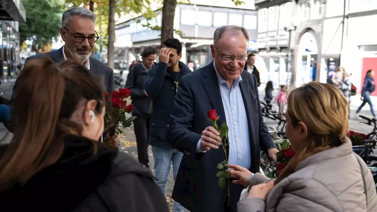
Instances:
[[[146,75],[147,70],[141,63],[133,66],[127,75],[126,88],[131,90],[131,100],[134,106],[132,115],[135,116],[152,113],[152,98],[144,93]]]

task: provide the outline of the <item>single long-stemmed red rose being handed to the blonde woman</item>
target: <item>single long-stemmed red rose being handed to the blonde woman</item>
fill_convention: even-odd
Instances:
[[[230,178],[230,172],[228,171],[228,156],[227,156],[227,150],[225,149],[226,146],[229,145],[229,142],[227,143],[228,138],[228,125],[226,123],[222,123],[219,127],[217,126],[217,121],[219,120],[219,116],[216,114],[216,110],[210,110],[207,112],[208,120],[211,121],[213,128],[215,128],[220,133],[220,140],[216,145],[219,145],[221,143],[222,149],[224,151],[225,160],[221,161],[219,164],[217,164],[217,168],[221,169],[221,171],[217,172],[216,177],[219,178],[218,184],[219,187],[223,188],[225,184],[228,182],[228,205],[229,205],[229,178]]]

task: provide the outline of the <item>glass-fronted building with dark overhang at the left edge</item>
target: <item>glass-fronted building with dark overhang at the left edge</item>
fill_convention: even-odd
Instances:
[[[2,78],[15,74],[20,63],[20,34],[18,22],[26,21],[21,0],[0,0],[0,63]]]

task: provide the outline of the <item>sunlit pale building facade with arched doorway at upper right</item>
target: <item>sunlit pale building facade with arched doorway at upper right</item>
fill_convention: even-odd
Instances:
[[[366,71],[377,70],[377,29],[368,27],[377,21],[377,1],[256,0],[255,6],[261,81],[325,83],[341,65],[360,93]]]

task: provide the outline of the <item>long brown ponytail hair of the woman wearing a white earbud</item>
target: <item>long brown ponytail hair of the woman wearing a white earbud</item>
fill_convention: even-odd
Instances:
[[[16,128],[0,160],[0,190],[25,184],[61,157],[63,136],[69,132],[81,135],[81,124],[70,121],[80,103],[96,100],[96,113],[101,113],[104,106],[102,84],[74,61],[58,65],[49,57],[29,61],[16,86]],[[96,142],[93,144],[96,152]]]

